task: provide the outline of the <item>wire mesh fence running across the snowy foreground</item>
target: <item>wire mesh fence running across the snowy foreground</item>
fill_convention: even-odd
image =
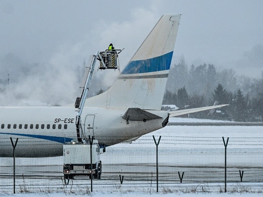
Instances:
[[[159,136],[156,138],[156,144],[153,138],[148,136],[139,143],[123,143],[106,147],[106,152],[99,155],[101,175],[93,176],[93,191],[152,192],[157,191],[157,188],[159,191],[185,192],[223,192],[225,189],[227,191],[263,191],[263,148],[261,148],[263,138],[254,140],[230,138],[225,155],[222,138],[180,137],[181,143],[179,143],[176,141],[177,137],[167,136],[160,140],[158,158]],[[182,143],[186,146],[176,147],[181,146]],[[239,147],[231,147],[230,144],[236,144]],[[201,146],[192,147],[193,145]],[[13,149],[8,151],[6,155],[13,154]],[[20,148],[19,151],[29,150]],[[39,147],[33,151],[41,155],[43,149]],[[59,152],[56,148],[54,150],[51,148],[50,151]],[[89,154],[89,149],[79,153],[80,156]],[[97,158],[98,155],[93,156],[93,164],[98,167]],[[2,193],[14,192],[13,161],[13,158],[0,158],[0,192]],[[85,169],[90,169],[89,162],[86,163]],[[96,165],[92,168],[96,168]],[[80,170],[80,166],[66,169]],[[86,193],[91,191],[90,175],[65,176],[64,172],[63,156],[16,157],[15,192]]]

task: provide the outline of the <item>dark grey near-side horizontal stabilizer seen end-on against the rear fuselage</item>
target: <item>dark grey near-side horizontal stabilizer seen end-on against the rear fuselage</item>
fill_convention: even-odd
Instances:
[[[131,121],[144,121],[160,119],[162,117],[152,114],[148,111],[144,111],[140,108],[128,108],[125,114],[122,116],[122,118]]]

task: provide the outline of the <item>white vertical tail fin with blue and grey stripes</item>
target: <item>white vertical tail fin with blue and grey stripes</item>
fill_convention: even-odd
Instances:
[[[160,110],[181,15],[165,14],[109,90],[85,107]]]

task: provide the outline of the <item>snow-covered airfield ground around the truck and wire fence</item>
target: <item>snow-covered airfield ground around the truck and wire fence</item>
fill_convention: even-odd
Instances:
[[[169,120],[171,122],[216,121],[186,118],[170,118]],[[94,180],[93,182],[96,191],[105,191],[106,193],[95,192],[92,195],[174,196],[175,194],[179,194],[188,197],[202,194],[225,196],[226,194],[214,192],[218,192],[219,188],[220,190],[224,188],[224,145],[222,137],[225,137],[225,139],[229,137],[227,146],[228,189],[229,192],[234,193],[230,195],[236,195],[235,192],[242,193],[244,191],[262,192],[262,129],[262,126],[166,126],[158,131],[142,136],[131,144],[121,143],[108,147],[106,148],[106,153],[101,155],[102,163],[104,163],[102,180]],[[162,136],[158,149],[160,162],[159,191],[161,194],[154,193],[156,191],[156,156],[152,135],[157,140],[159,136]],[[9,160],[6,163],[1,161],[1,164],[6,166],[6,171],[12,172],[12,165],[10,165],[12,159],[9,158]],[[21,176],[16,179],[16,183],[19,185],[16,187],[18,188],[18,192],[19,189],[30,188],[29,190],[32,190],[33,188],[34,190],[34,188],[39,187],[46,188],[46,190],[42,189],[42,191],[48,191],[48,187],[52,188],[55,185],[60,185],[57,190],[60,193],[52,193],[48,194],[48,196],[65,196],[65,193],[61,193],[61,191],[64,190],[66,194],[69,194],[70,187],[73,185],[80,187],[80,190],[83,192],[83,183],[90,184],[90,180],[86,177],[78,177],[73,180],[74,182],[70,181],[67,187],[63,186],[63,180],[61,179],[61,176],[63,176],[61,173],[62,157],[39,158],[37,160],[17,158],[16,162],[23,163],[23,165],[18,165],[16,170],[25,175],[24,180]],[[32,172],[31,165],[35,165],[37,170]],[[44,175],[41,174],[47,166],[53,170],[46,171]],[[239,181],[239,170],[244,171],[244,182],[242,183]],[[185,172],[183,183],[178,182],[178,171]],[[119,174],[125,177],[123,185],[119,183]],[[256,181],[254,181],[255,179]],[[0,188],[3,189],[9,186],[10,193],[12,192],[13,182],[11,173],[8,178],[1,176],[0,182]],[[4,182],[5,184],[3,184]],[[70,186],[71,184],[72,186]],[[140,191],[142,187],[144,188],[142,189],[144,193],[127,192]],[[169,194],[170,190],[176,192]],[[107,191],[113,193],[107,193]],[[193,191],[194,193],[192,193]],[[196,193],[196,191],[199,193]],[[207,193],[204,194],[202,191],[207,191]],[[211,191],[213,193],[209,193]],[[77,194],[81,195],[81,192]],[[34,194],[16,195],[32,196]],[[244,196],[258,196],[258,194],[245,192]]]

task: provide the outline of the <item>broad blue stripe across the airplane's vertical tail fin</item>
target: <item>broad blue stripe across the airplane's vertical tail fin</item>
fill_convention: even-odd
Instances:
[[[169,70],[172,57],[173,51],[155,58],[130,61],[122,71],[122,74],[148,73]]]

